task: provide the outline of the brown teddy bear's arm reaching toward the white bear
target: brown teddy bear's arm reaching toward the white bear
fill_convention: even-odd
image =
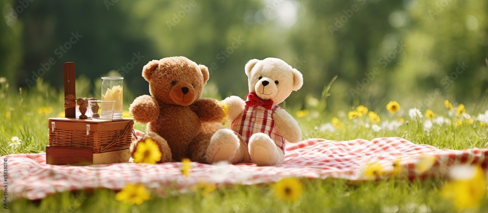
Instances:
[[[222,104],[212,98],[200,98],[191,109],[203,122],[220,122],[224,117]]]

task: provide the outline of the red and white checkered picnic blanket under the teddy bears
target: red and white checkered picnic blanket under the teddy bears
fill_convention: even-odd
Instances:
[[[432,157],[434,156],[434,157]],[[427,158],[434,159],[429,165]],[[455,164],[488,166],[488,149],[439,150],[416,145],[403,138],[330,141],[308,139],[286,145],[285,162],[276,166],[255,164],[208,165],[192,162],[188,177],[181,173],[181,162],[163,164],[114,163],[92,166],[46,164],[45,153],[6,155],[9,199],[41,199],[63,191],[108,188],[121,190],[128,183],[142,183],[163,194],[164,190],[185,190],[197,183],[258,184],[284,177],[368,179],[368,163],[382,165],[386,178],[393,162],[401,159],[402,174],[415,177],[441,176]],[[419,165],[424,169],[419,170]]]

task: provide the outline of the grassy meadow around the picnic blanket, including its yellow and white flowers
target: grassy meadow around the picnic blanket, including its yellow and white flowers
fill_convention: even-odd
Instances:
[[[286,103],[283,104],[299,121],[303,139],[370,140],[394,136],[439,149],[488,148],[487,99],[463,104],[437,98],[428,111],[416,111],[413,109],[416,103],[396,100],[398,105],[394,102],[388,106],[387,103],[381,106],[358,103],[345,105],[344,111],[328,112],[325,107],[327,89],[330,87],[322,97],[307,96],[303,106],[287,107]],[[77,88],[77,91],[83,90]],[[129,103],[125,101],[126,109]],[[0,78],[0,155],[45,152],[48,145],[47,118],[63,116],[62,112],[62,91],[60,93],[42,80],[26,91],[9,88],[8,81]],[[137,123],[135,128],[144,130],[144,125]],[[293,183],[289,188],[283,188],[286,182],[279,182],[229,185],[217,189],[215,186],[202,186],[184,193],[168,186],[165,195],[150,191],[140,194],[141,204],[131,204],[128,198],[117,198],[120,192],[96,189],[63,192],[35,201],[17,199],[9,202],[9,211],[486,212],[486,178],[485,173],[481,175],[481,182],[470,179],[463,183],[440,178],[410,181],[392,177],[361,182],[293,179],[288,182]],[[463,191],[473,186],[477,187],[475,192]],[[445,195],[449,193],[462,197]]]

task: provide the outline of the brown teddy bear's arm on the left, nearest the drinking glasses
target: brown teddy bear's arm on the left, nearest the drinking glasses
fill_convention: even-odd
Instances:
[[[141,123],[155,121],[160,114],[160,106],[154,97],[143,95],[134,99],[129,107],[134,120]]]

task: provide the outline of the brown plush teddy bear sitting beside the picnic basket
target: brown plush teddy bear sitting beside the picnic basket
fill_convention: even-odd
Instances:
[[[185,57],[163,58],[149,61],[142,77],[149,82],[151,95],[137,97],[129,111],[137,122],[148,123],[147,135],[131,144],[131,156],[139,141],[151,137],[162,153],[159,162],[183,157],[201,163],[249,161],[247,146],[234,131],[204,128],[226,117],[223,103],[200,98],[209,77],[206,66]]]

